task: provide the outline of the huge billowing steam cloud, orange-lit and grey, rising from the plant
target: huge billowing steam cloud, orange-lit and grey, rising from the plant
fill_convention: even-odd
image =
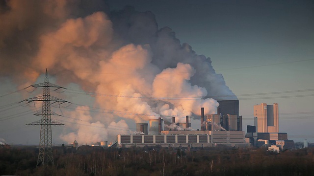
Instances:
[[[117,95],[96,96],[95,106],[125,112],[93,116],[86,107],[66,112],[73,125],[61,139],[105,140],[120,133],[110,131],[113,127],[127,127],[121,118],[193,117],[201,107],[215,113],[218,103],[210,97],[234,95],[210,58],[181,44],[170,28],[158,29],[154,14],[131,7],[110,13],[101,3],[0,1],[1,77],[26,87],[48,68],[59,84]],[[94,131],[93,136],[86,131]]]

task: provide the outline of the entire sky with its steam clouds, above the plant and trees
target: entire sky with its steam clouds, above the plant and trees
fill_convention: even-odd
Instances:
[[[314,142],[313,1],[11,2],[0,4],[2,141],[38,143],[39,126],[25,124],[39,119],[40,103],[10,103],[40,95],[15,91],[43,82],[48,68],[51,82],[68,88],[53,93],[72,102],[56,107],[66,126],[53,126],[54,144],[114,140],[117,129],[158,115],[191,115],[198,129],[200,106],[215,113],[209,98],[234,94],[243,129],[254,105],[278,103],[279,131]],[[209,98],[164,100],[176,96]]]

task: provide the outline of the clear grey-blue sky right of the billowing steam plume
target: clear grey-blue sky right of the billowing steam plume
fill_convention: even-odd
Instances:
[[[139,11],[152,11],[159,27],[169,26],[181,43],[188,43],[197,54],[210,57],[214,69],[224,76],[235,95],[281,92],[238,96],[243,129],[254,125],[254,105],[279,103],[280,132],[301,138],[314,134],[311,131],[313,90],[283,93],[314,88],[313,1],[111,0],[109,3],[114,9],[129,4]],[[292,97],[263,99],[278,96]],[[261,98],[253,99],[256,97]]]

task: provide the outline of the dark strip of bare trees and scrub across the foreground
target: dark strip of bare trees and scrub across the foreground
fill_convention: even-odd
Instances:
[[[53,149],[54,165],[36,167],[38,149],[1,148],[0,175],[17,176],[314,176],[314,149],[80,146]]]

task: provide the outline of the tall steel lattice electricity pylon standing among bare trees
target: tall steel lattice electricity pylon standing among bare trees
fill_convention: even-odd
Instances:
[[[53,103],[59,103],[60,105],[67,101],[51,96],[50,88],[56,88],[55,90],[57,90],[63,87],[49,83],[47,68],[46,68],[45,82],[35,84],[29,87],[34,87],[34,88],[43,87],[44,89],[44,93],[42,96],[33,97],[33,98],[24,100],[24,101],[27,101],[28,103],[33,102],[33,101],[43,102],[42,111],[34,114],[37,116],[41,116],[41,120],[26,124],[26,125],[40,125],[39,154],[38,154],[38,159],[37,159],[37,166],[39,164],[45,165],[49,163],[53,165],[51,126],[52,125],[64,125],[64,124],[51,119],[52,115],[59,115],[59,114],[53,112],[50,106]],[[62,115],[59,115],[59,116],[62,116]]]

